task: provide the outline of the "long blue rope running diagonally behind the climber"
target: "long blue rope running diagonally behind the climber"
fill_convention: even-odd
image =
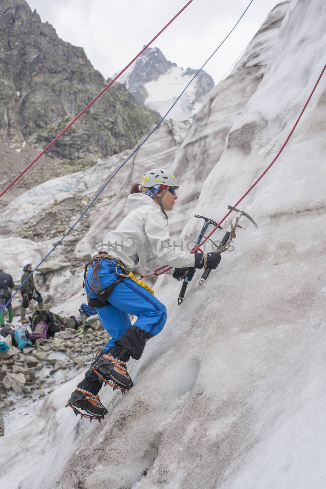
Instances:
[[[138,150],[139,148],[141,148],[143,146],[143,144],[148,140],[148,138],[152,135],[152,133],[154,131],[156,131],[156,129],[160,126],[160,124],[162,123],[162,121],[164,121],[165,117],[168,115],[169,112],[172,111],[172,109],[174,108],[175,104],[177,103],[177,101],[179,100],[179,98],[182,97],[182,95],[184,94],[184,92],[187,90],[187,88],[189,87],[189,85],[195,80],[196,76],[198,73],[200,73],[200,71],[203,69],[203,67],[205,65],[207,65],[207,63],[210,61],[211,58],[213,58],[214,54],[218,51],[218,49],[221,47],[222,44],[225,43],[225,41],[227,40],[227,38],[232,34],[232,32],[234,31],[234,29],[237,27],[237,25],[239,24],[240,20],[242,19],[242,17],[244,16],[244,14],[247,12],[248,8],[250,7],[250,5],[252,4],[254,0],[251,0],[250,3],[248,4],[247,8],[245,9],[245,11],[243,12],[243,14],[241,15],[241,17],[239,18],[238,22],[232,27],[232,29],[230,30],[230,32],[228,33],[228,35],[223,39],[223,41],[217,46],[217,48],[215,49],[215,51],[211,54],[211,56],[205,61],[205,63],[203,64],[203,66],[201,68],[198,69],[198,71],[195,73],[195,75],[193,76],[193,78],[190,80],[190,82],[188,83],[188,85],[186,85],[186,87],[182,90],[182,92],[180,93],[180,95],[175,99],[174,103],[172,104],[172,106],[170,107],[170,109],[167,111],[167,113],[165,115],[163,115],[162,119],[158,122],[158,124],[154,127],[154,129],[148,134],[147,137],[145,137],[144,141],[142,141],[140,143],[139,146],[137,146],[137,148],[128,156],[128,158],[119,166],[119,168],[113,173],[112,177],[109,178],[109,180],[107,181],[107,183],[105,185],[103,185],[103,187],[101,188],[101,190],[96,194],[96,196],[94,197],[94,199],[90,202],[90,204],[87,205],[85,211],[83,212],[83,214],[80,216],[80,218],[70,227],[70,229],[65,233],[65,235],[61,238],[60,241],[58,241],[57,244],[55,244],[53,246],[53,248],[51,249],[51,251],[49,251],[47,253],[47,255],[43,258],[43,260],[34,268],[34,270],[32,270],[30,272],[30,274],[28,275],[28,277],[23,281],[22,285],[16,290],[16,292],[14,293],[14,295],[9,299],[9,301],[7,302],[7,304],[5,304],[1,311],[4,311],[4,309],[8,306],[8,304],[10,304],[10,302],[12,301],[12,299],[15,297],[15,295],[18,293],[18,291],[22,288],[22,286],[24,285],[24,283],[29,279],[29,277],[31,275],[33,275],[33,273],[35,272],[35,270],[37,270],[38,267],[40,267],[40,265],[42,265],[42,263],[46,260],[46,258],[56,249],[57,246],[59,246],[60,243],[62,243],[65,239],[66,236],[68,236],[68,234],[73,230],[73,228],[78,224],[79,221],[81,221],[81,219],[85,216],[85,214],[87,213],[89,207],[91,205],[93,205],[93,203],[95,202],[95,200],[98,198],[98,196],[103,192],[103,190],[106,188],[106,186],[108,185],[108,183],[112,180],[112,178],[115,177],[115,175],[121,170],[121,168],[127,163],[127,161],[130,160],[131,156],[133,156]]]

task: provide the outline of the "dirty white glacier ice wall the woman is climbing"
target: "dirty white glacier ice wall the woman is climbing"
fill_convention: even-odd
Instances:
[[[276,155],[325,65],[325,18],[323,0],[291,2],[188,218],[224,215]],[[8,413],[4,488],[325,488],[325,80],[241,204],[259,229],[240,221],[234,250],[201,288],[196,273],[181,306],[179,283],[156,283],[167,324],[129,362],[130,393],[101,391],[106,420],[64,409],[82,373]],[[183,234],[197,227],[191,217]]]

